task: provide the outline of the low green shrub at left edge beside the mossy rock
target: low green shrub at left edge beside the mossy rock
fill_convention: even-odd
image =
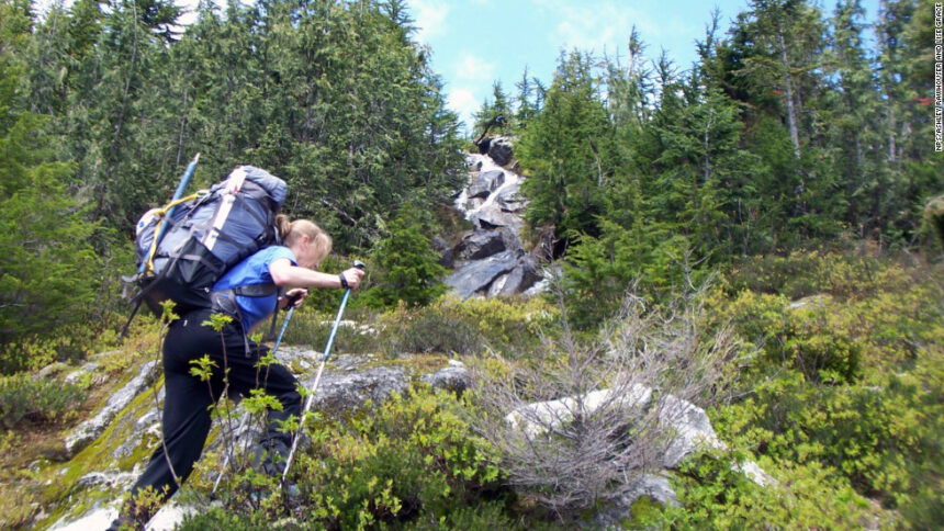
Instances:
[[[26,373],[0,376],[0,422],[16,428],[24,420],[61,422],[75,414],[86,392],[72,384],[33,379]]]

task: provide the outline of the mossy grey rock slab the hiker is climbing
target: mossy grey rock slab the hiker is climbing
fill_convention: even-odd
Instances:
[[[353,321],[345,325],[357,334],[375,334],[370,327],[359,326]],[[308,387],[314,383],[315,372],[322,364],[323,354],[312,349],[299,347],[282,347],[276,358],[293,372],[300,375],[302,383]],[[402,393],[414,381],[427,382],[434,387],[450,391],[461,391],[471,383],[471,375],[465,366],[456,361],[442,359],[438,369],[428,370],[429,357],[423,357],[417,366],[427,370],[414,370],[409,357],[397,360],[384,360],[374,355],[338,355],[328,360],[322,381],[315,393],[313,409],[328,415],[341,415],[345,411],[362,407],[364,403],[378,405],[393,393]],[[94,370],[89,366],[89,370]],[[154,383],[158,374],[157,362],[146,363],[131,382],[123,385],[95,417],[83,422],[69,437],[69,448],[77,453],[88,447],[79,457],[69,463],[59,474],[63,477],[75,477],[68,488],[69,506],[82,507],[82,500],[88,496],[93,505],[80,512],[58,516],[56,510],[63,508],[49,507],[48,510],[57,516],[41,516],[40,519],[54,520],[49,529],[85,531],[87,529],[105,529],[117,516],[121,497],[137,479],[138,474],[159,437],[159,416],[150,398],[145,404],[131,404],[133,398]],[[161,395],[158,395],[160,399]],[[141,403],[141,400],[138,400]],[[128,407],[128,405],[134,407]],[[207,445],[206,451],[218,448],[224,441],[235,441],[234,448],[249,448],[256,437],[246,418],[241,405],[234,409],[235,420],[231,427],[217,426],[218,436]],[[111,436],[104,434],[108,428]],[[120,429],[119,429],[120,428]],[[108,437],[106,441],[101,438]],[[94,442],[94,444],[89,444]],[[94,456],[88,455],[94,451]],[[134,467],[122,470],[120,462],[135,460]],[[78,471],[78,472],[77,472]],[[102,496],[102,493],[111,493]],[[167,504],[148,524],[149,530],[169,530],[179,526],[189,511],[201,508]],[[48,526],[46,522],[44,526]]]

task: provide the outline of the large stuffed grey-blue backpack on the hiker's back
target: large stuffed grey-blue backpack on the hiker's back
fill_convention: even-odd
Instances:
[[[234,182],[237,192],[227,185]],[[281,244],[276,214],[286,192],[278,177],[238,166],[209,191],[145,213],[135,230],[138,273],[124,278],[138,289],[132,318],[142,303],[157,315],[167,300],[176,303],[178,315],[213,307],[211,290],[229,268]]]

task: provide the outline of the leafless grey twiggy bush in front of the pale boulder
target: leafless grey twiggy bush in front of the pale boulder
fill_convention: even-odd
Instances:
[[[596,338],[564,321],[542,355],[485,364],[495,376],[479,379],[488,415],[476,427],[520,496],[571,521],[623,499],[664,462],[672,419],[686,410],[676,400],[712,400],[740,354],[726,328],[705,326],[700,302],[653,310],[629,297]]]

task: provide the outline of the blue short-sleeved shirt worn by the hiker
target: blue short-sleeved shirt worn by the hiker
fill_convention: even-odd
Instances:
[[[234,266],[223,278],[216,281],[213,290],[271,284],[272,275],[269,273],[269,264],[280,258],[288,258],[292,266],[297,266],[295,253],[288,247],[267,247]],[[236,304],[239,305],[239,312],[243,314],[243,329],[247,332],[251,330],[260,320],[276,312],[278,303],[278,293],[261,297],[236,295]]]

